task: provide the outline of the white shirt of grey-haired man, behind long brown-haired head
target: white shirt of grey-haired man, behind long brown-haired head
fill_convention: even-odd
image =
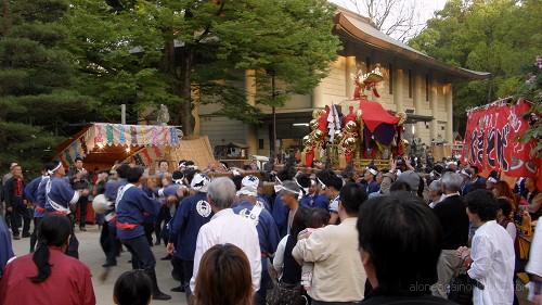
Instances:
[[[233,213],[233,209],[225,208],[215,214],[210,221],[202,226],[197,233],[194,272],[190,280],[192,292],[195,291],[202,256],[214,245],[224,243],[231,243],[243,250],[250,263],[254,291],[260,289],[261,252],[256,226],[251,220]]]

